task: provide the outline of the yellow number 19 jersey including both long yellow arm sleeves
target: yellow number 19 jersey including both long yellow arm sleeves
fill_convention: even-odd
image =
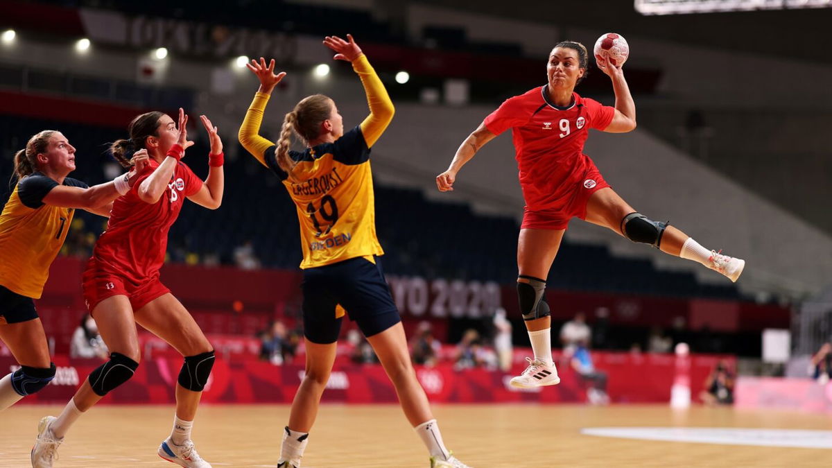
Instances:
[[[240,127],[245,149],[280,177],[295,202],[304,269],[384,254],[375,234],[369,152],[393,118],[393,102],[366,57],[357,58],[353,69],[367,92],[369,116],[335,142],[290,151],[297,163],[291,178],[277,164],[275,143],[257,135],[268,94],[255,95]]]

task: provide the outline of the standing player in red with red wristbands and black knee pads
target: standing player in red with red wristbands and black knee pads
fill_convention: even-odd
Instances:
[[[111,355],[82,383],[61,416],[41,420],[32,448],[35,468],[52,466],[72,423],[136,371],[141,356],[136,323],[185,356],[176,385],[173,431],[161,442],[159,456],[180,466],[210,467],[194,449],[191,426],[214,364],[214,350],[191,314],[159,281],[167,232],[185,198],[209,209],[222,202],[222,142],[208,118],[201,119],[210,136],[205,182],[181,162],[186,148],[194,144],[187,140],[188,117],[182,109],[178,125],[163,112],[141,114],[130,123],[130,139],[111,146],[113,157],[125,167],[131,157],[150,157],[149,168],[131,191],[113,203],[107,229],[83,275],[84,300]]]

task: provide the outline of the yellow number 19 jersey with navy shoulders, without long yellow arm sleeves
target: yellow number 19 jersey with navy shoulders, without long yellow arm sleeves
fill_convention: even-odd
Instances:
[[[300,183],[292,182],[280,169],[275,146],[263,154],[295,202],[304,252],[302,269],[356,256],[384,255],[375,234],[370,149],[361,128],[354,127],[332,143],[290,151],[297,162],[292,174]]]

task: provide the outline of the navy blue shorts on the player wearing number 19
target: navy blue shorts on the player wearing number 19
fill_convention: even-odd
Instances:
[[[341,317],[336,318],[337,306],[344,308],[364,336],[373,336],[401,321],[379,257],[375,257],[375,264],[357,256],[307,268],[300,287],[304,293],[304,335],[313,343],[338,341]]]

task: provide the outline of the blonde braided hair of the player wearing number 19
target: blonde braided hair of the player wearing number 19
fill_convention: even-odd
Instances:
[[[283,119],[283,127],[280,128],[280,138],[277,140],[277,149],[275,149],[275,158],[280,169],[283,169],[289,175],[292,182],[299,182],[292,173],[297,162],[289,156],[292,131],[294,130],[295,135],[305,144],[309,144],[309,142],[319,137],[320,124],[332,114],[332,106],[333,102],[329,97],[323,94],[313,94],[301,99],[295,109],[286,114]]]

